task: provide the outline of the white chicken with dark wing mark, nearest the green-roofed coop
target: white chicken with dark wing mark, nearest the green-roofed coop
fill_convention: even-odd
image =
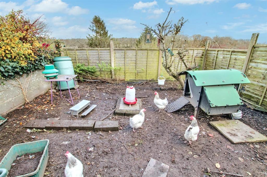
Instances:
[[[189,141],[190,147],[192,147],[191,143],[198,139],[199,127],[197,119],[194,116],[190,116],[190,120],[192,120],[192,123],[186,129],[184,138]]]

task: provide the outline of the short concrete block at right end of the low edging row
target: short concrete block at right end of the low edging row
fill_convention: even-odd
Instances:
[[[96,121],[94,130],[103,132],[118,131],[119,122],[117,120]]]

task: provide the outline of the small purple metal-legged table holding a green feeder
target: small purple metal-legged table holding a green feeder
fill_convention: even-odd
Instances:
[[[53,82],[53,81],[54,81],[54,82],[59,82],[60,96],[61,96],[61,98],[63,98],[63,97],[62,97],[62,93],[61,93],[60,82],[67,82],[67,86],[68,86],[68,89],[69,89],[68,81],[71,81],[72,79],[73,79],[73,81],[74,81],[74,78],[75,78],[76,76],[77,76],[76,74],[74,74],[74,75],[57,75],[57,79],[56,79],[56,78],[51,78],[51,79],[49,79],[49,80],[48,80],[48,79],[45,79],[45,81],[49,81],[49,82],[51,82],[51,104],[53,104],[52,82]],[[77,92],[78,92],[78,94],[79,94],[79,96],[80,96],[80,93],[79,93],[79,90],[78,90],[78,88],[77,88],[77,86],[76,86],[75,81],[74,81],[74,85],[75,85],[75,87],[76,87],[76,89],[77,89]],[[69,95],[70,95],[70,99],[66,99],[66,98],[63,98],[63,99],[67,100],[70,104],[73,105],[73,99],[72,99],[70,90],[69,90]],[[70,102],[69,100],[71,100],[71,102]]]

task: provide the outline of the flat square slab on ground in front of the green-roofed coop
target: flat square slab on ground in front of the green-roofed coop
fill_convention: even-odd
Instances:
[[[239,120],[212,121],[210,124],[232,143],[267,141],[266,136]]]

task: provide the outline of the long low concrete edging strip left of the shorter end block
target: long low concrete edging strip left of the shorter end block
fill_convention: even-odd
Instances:
[[[53,129],[62,130],[93,130],[95,120],[31,120],[26,123],[24,128]]]

